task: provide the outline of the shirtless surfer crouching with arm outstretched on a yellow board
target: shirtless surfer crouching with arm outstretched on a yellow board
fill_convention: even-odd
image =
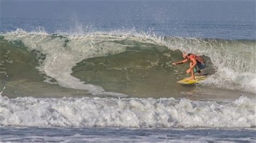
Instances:
[[[185,62],[190,61],[190,68],[186,71],[187,73],[191,73],[190,80],[194,80],[194,73],[201,73],[201,69],[205,69],[205,62],[203,58],[200,56],[197,56],[195,54],[188,53],[186,54],[185,52],[182,54],[184,60],[179,61],[179,62],[173,62],[172,65],[179,65],[183,64]],[[193,70],[192,70],[193,69]]]

